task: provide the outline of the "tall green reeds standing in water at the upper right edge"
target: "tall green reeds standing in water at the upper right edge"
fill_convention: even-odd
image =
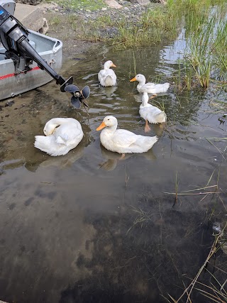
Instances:
[[[226,13],[226,8],[220,4],[203,6],[185,15],[187,46],[182,66],[188,90],[196,82],[201,87],[209,87],[211,79],[224,79],[226,75]]]

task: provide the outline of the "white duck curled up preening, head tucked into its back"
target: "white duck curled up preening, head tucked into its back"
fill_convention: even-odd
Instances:
[[[45,136],[35,136],[35,148],[52,156],[65,155],[75,148],[84,136],[76,119],[54,118],[43,128]]]

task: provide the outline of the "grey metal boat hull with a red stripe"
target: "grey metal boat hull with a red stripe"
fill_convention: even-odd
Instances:
[[[62,67],[62,42],[34,31],[29,32],[28,39],[33,48],[58,73]],[[5,51],[3,47],[0,47],[0,53]],[[5,60],[4,57],[4,55],[0,57],[0,100],[28,92],[52,80],[48,72],[40,70],[34,61],[30,65],[30,71],[15,75],[13,60]],[[23,67],[23,60],[21,60],[20,69],[23,70]]]

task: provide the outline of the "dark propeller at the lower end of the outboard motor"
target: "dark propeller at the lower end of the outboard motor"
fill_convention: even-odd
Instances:
[[[82,90],[79,90],[79,88],[76,87],[76,85],[68,84],[65,87],[65,92],[70,92],[72,94],[71,104],[76,109],[80,108],[81,103],[89,107],[87,103],[84,101],[84,99],[87,99],[87,97],[89,97],[90,94],[90,89],[87,85]]]

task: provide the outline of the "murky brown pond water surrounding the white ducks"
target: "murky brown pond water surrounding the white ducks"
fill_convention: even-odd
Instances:
[[[196,275],[214,241],[212,222],[226,218],[226,142],[210,139],[214,146],[206,139],[226,138],[216,102],[226,93],[216,87],[177,92],[172,75],[181,51],[180,38],[116,53],[99,46],[84,57],[75,54],[61,71],[79,87],[89,85],[88,111],[72,109],[70,95],[54,82],[1,108],[0,299],[166,302]],[[117,66],[116,87],[97,81],[106,60]],[[164,128],[150,125],[144,133],[137,83],[129,82],[136,73],[170,82],[153,100],[165,106]],[[119,128],[159,140],[148,153],[119,160],[100,145],[96,131],[110,114]],[[33,147],[34,136],[54,117],[75,118],[84,131],[77,148],[57,158]],[[175,192],[176,177],[178,192],[218,182],[219,197],[198,194],[214,192],[210,187],[179,195],[175,203],[165,192]],[[195,302],[209,302],[195,296]]]

